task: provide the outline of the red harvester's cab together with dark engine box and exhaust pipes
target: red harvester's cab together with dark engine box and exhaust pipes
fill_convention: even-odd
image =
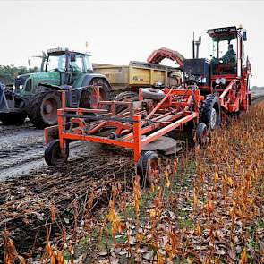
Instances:
[[[230,81],[241,79],[245,69],[249,69],[248,60],[243,57],[243,41],[247,40],[242,27],[226,27],[208,30],[212,39],[211,59],[199,58],[199,41],[193,40],[192,59],[184,60],[184,82],[195,82],[201,94],[212,93],[216,86],[226,87]],[[194,45],[197,46],[195,55]]]

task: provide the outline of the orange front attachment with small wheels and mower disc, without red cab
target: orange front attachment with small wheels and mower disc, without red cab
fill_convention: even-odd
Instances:
[[[67,160],[71,141],[98,142],[132,149],[141,180],[153,183],[158,173],[158,154],[153,150],[172,154],[177,149],[176,141],[164,137],[168,132],[183,131],[191,123],[197,140],[203,144],[208,140],[207,126],[199,123],[200,91],[196,87],[144,88],[137,101],[100,101],[98,109],[69,107],[67,91],[62,95],[58,125],[45,129],[48,166]]]

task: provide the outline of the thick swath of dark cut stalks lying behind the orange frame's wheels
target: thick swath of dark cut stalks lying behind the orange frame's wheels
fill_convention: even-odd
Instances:
[[[38,247],[45,248],[46,228],[53,214],[54,232],[80,227],[90,211],[108,204],[113,184],[130,183],[130,158],[111,154],[101,151],[92,158],[77,158],[65,166],[0,183],[0,230],[10,232],[17,251],[25,257],[34,256],[34,251],[39,254]],[[51,238],[62,242],[61,235],[52,234]],[[1,239],[0,244],[3,260]]]

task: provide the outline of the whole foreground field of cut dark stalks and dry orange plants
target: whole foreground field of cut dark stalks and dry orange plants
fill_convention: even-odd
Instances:
[[[79,263],[260,263],[263,119],[263,108],[253,107],[214,133],[207,149],[163,158],[163,180],[149,189],[132,184],[130,153],[119,149],[97,148],[64,166],[5,180],[0,231],[8,232],[0,239],[0,261],[12,239],[29,260],[64,252]],[[46,245],[53,246],[51,255]]]

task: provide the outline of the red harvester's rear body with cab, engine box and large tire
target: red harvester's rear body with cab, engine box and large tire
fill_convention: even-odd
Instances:
[[[195,82],[205,96],[201,118],[211,127],[216,120],[220,123],[221,118],[248,110],[251,64],[244,57],[247,35],[242,26],[211,29],[207,33],[213,42],[211,59],[198,58],[193,41],[193,58],[184,60],[183,72],[184,82]]]

